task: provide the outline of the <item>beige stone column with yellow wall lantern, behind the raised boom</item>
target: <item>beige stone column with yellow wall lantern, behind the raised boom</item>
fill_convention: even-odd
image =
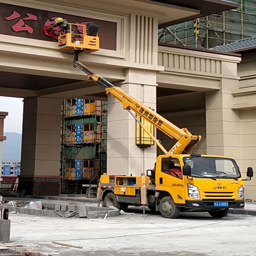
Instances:
[[[132,97],[156,110],[156,72],[126,70],[126,80],[117,84]],[[140,175],[156,162],[156,145],[135,144],[135,120],[122,103],[108,96],[108,174]]]

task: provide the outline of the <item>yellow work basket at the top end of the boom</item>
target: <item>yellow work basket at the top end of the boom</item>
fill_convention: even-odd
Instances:
[[[98,29],[93,28],[98,26],[98,24],[88,23],[83,25],[68,23],[68,26],[68,32],[60,35],[58,39],[60,50],[81,50],[87,53],[100,50]],[[94,34],[95,31],[97,32]]]

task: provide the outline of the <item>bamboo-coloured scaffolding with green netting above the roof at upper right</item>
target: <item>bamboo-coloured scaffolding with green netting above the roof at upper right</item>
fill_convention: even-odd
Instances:
[[[161,43],[210,49],[256,36],[256,0],[233,0],[236,9],[159,29]]]

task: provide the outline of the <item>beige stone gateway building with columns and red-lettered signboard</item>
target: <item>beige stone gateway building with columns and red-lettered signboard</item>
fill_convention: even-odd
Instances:
[[[136,145],[133,117],[73,68],[71,53],[57,49],[58,31],[49,34],[45,28],[58,16],[75,23],[100,24],[100,51],[81,54],[81,62],[176,125],[202,134],[195,152],[234,157],[243,175],[247,166],[256,168],[253,146],[242,145],[240,140],[241,127],[251,120],[256,105],[241,88],[237,69],[241,55],[158,44],[159,27],[223,12],[237,4],[221,0],[0,3],[0,92],[24,98],[20,190],[26,188],[30,195],[60,193],[63,98],[108,101],[109,174],[140,175],[154,166],[160,153],[156,145]],[[246,107],[249,102],[250,108]],[[167,149],[172,147],[170,138],[155,134]],[[248,197],[254,196],[255,185],[254,180],[247,183]]]

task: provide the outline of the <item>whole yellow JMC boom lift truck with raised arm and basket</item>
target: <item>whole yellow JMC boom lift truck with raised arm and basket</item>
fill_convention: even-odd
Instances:
[[[231,157],[191,153],[200,141],[200,135],[175,126],[79,62],[80,52],[99,50],[99,25],[69,25],[70,33],[59,37],[59,49],[75,50],[74,67],[80,68],[89,80],[122,102],[124,109],[164,153],[157,157],[152,170],[145,170],[146,174],[141,176],[101,175],[98,200],[106,207],[115,206],[124,210],[128,205],[143,205],[145,211],[147,205],[152,211],[160,211],[165,218],[176,218],[180,212],[209,212],[214,218],[222,218],[227,215],[229,208],[243,208],[244,180],[236,161]],[[136,118],[136,114],[176,139],[175,145],[167,151]],[[179,168],[180,173],[177,173]],[[246,180],[251,180],[252,176],[252,168],[248,167],[249,178]]]

